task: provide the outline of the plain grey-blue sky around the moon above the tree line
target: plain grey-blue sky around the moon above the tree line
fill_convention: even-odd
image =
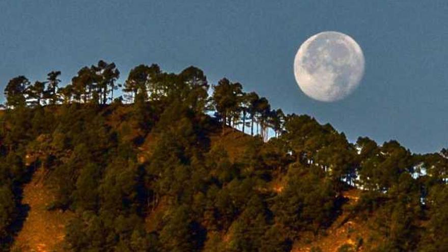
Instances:
[[[51,70],[66,83],[100,59],[116,62],[122,79],[141,63],[194,65],[350,141],[448,147],[447,1],[3,0],[0,10],[2,90],[14,76],[42,80]],[[307,97],[294,79],[298,47],[322,31],[351,36],[366,59],[360,86],[338,102]]]

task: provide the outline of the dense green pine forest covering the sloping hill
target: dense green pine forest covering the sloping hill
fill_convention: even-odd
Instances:
[[[291,251],[304,234],[325,234],[342,211],[366,220],[371,235],[340,251],[448,251],[446,150],[349,143],[238,82],[210,85],[196,67],[139,65],[122,84],[104,61],[64,87],[60,75],[18,76],[5,88],[2,251],[37,169],[56,195],[47,210],[74,213],[67,251]],[[213,144],[228,132],[240,133],[243,148]],[[359,200],[347,206],[353,189]]]

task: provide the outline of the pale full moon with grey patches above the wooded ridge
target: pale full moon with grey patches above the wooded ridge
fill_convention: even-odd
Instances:
[[[322,32],[307,39],[294,59],[294,75],[307,96],[325,102],[342,100],[364,74],[364,55],[350,36]]]

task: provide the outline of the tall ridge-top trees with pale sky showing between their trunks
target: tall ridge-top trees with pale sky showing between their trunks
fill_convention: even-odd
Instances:
[[[179,74],[163,72],[156,64],[139,65],[131,69],[124,85],[118,84],[120,71],[114,63],[99,61],[97,65],[81,68],[71,82],[59,87],[60,71],[48,73],[45,81],[33,84],[25,76],[11,79],[5,89],[6,105],[41,106],[68,103],[106,104],[114,101],[114,92],[122,88],[122,96],[135,102],[170,102],[167,98],[191,103],[195,111],[216,111],[223,125],[239,127],[243,132],[250,127],[250,134],[260,134],[267,141],[269,128],[274,136],[282,132],[285,115],[281,109],[271,109],[265,97],[246,93],[238,82],[222,78],[213,86],[209,97],[209,83],[204,72],[188,67]],[[256,127],[256,129],[254,128]],[[255,130],[255,131],[254,131]]]

